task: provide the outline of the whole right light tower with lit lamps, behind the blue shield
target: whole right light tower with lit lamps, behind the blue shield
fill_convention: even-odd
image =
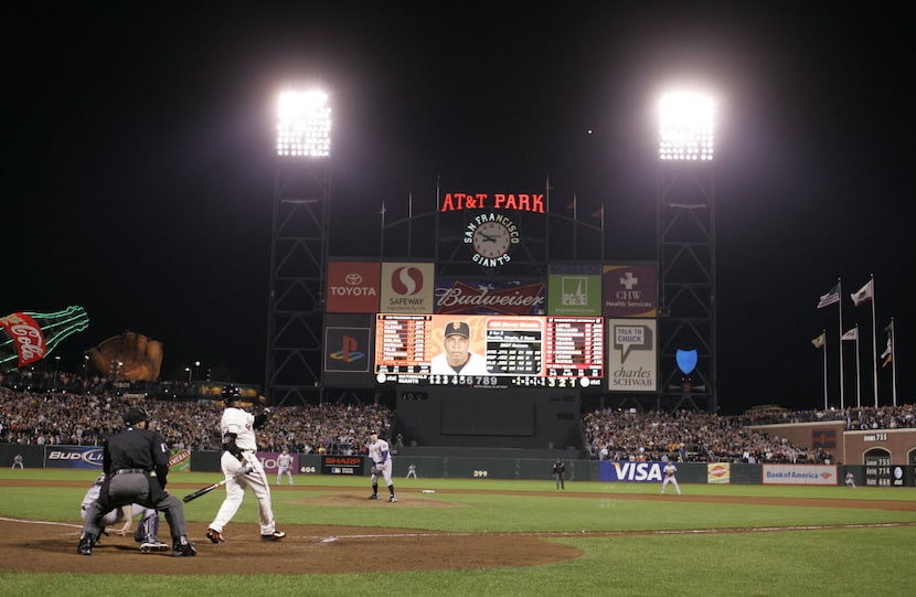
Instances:
[[[718,409],[716,381],[715,117],[711,95],[671,92],[658,104],[657,225],[661,398]],[[682,354],[695,352],[695,366]]]

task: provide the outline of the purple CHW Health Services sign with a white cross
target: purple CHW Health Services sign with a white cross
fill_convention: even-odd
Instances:
[[[604,317],[658,316],[658,266],[650,264],[606,265],[601,269]]]

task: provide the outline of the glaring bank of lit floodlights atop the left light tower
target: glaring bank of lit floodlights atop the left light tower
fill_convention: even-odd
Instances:
[[[323,92],[284,92],[277,104],[277,154],[331,154],[331,108]]]

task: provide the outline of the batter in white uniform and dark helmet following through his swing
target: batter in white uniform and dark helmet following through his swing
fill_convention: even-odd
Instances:
[[[263,541],[280,541],[286,533],[277,531],[274,522],[274,509],[270,504],[270,484],[260,460],[257,458],[257,440],[255,429],[267,422],[268,411],[262,415],[252,415],[242,409],[241,392],[234,385],[223,388],[223,418],[220,420],[220,431],[223,436],[223,456],[220,465],[226,476],[226,499],[216,512],[216,518],[210,523],[206,539],[212,543],[223,543],[223,527],[238,511],[245,488],[249,488],[257,499],[257,515],[260,524]],[[236,478],[243,470],[249,472]]]

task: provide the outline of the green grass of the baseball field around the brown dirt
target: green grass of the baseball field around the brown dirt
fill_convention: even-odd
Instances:
[[[35,486],[4,487],[0,516],[78,522],[85,488],[41,487],[42,480],[85,481],[92,471],[2,470],[0,479],[31,479]],[[215,473],[172,473],[170,490],[184,495],[219,480]],[[624,499],[658,493],[658,484],[459,479],[395,480],[403,500],[422,495],[461,508],[350,508],[307,500],[342,488],[369,488],[368,478],[296,478],[298,487],[274,493],[283,524],[391,526],[461,532],[556,532],[550,541],[573,545],[583,556],[558,564],[519,568],[476,568],[392,574],[303,576],[23,574],[0,572],[4,595],[61,594],[98,597],[145,595],[914,595],[916,594],[916,512],[882,509],[887,500],[916,503],[916,491],[896,488],[801,488],[763,486],[682,486],[685,497],[818,498],[854,497],[874,508],[755,505],[679,500]],[[185,487],[187,483],[187,487]],[[306,491],[302,486],[309,486]],[[316,489],[317,488],[317,489]],[[419,490],[434,493],[419,493]],[[500,493],[512,491],[512,494]],[[528,494],[526,494],[528,493]],[[670,498],[670,499],[669,499]],[[209,521],[217,500],[187,505],[190,521]],[[251,498],[235,518],[255,522]],[[838,527],[840,525],[851,525]],[[875,526],[884,525],[884,526]],[[824,529],[819,529],[824,526]],[[793,530],[786,530],[792,527]],[[757,529],[712,533],[715,529]],[[577,536],[582,531],[606,536]],[[615,535],[626,531],[660,531]],[[364,554],[354,553],[354,562]],[[295,565],[294,563],[290,563]],[[228,573],[230,571],[227,571]]]

